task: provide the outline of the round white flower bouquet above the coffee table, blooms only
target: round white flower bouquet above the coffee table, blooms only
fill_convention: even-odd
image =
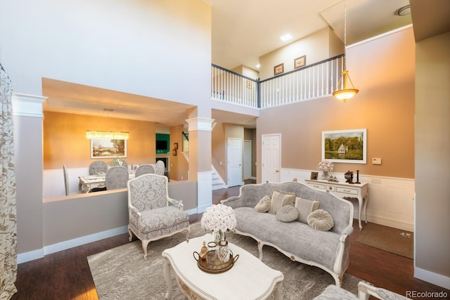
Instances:
[[[201,225],[205,230],[221,231],[233,230],[236,227],[236,216],[231,207],[224,204],[214,204],[203,213]]]

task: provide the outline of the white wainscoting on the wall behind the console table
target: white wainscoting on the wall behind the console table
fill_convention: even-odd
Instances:
[[[344,174],[332,173],[341,183]],[[319,178],[321,174],[319,172]],[[281,168],[281,181],[304,182],[311,177],[311,170]],[[367,219],[369,222],[384,226],[414,231],[414,180],[409,178],[391,178],[380,176],[359,176],[359,181],[368,182],[369,200]],[[354,219],[357,219],[358,203],[354,204]],[[364,230],[364,222],[363,222]]]

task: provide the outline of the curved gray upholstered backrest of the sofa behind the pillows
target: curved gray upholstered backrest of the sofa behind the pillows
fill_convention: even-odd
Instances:
[[[255,207],[259,200],[265,195],[271,197],[273,190],[295,193],[297,197],[321,202],[319,209],[326,210],[333,216],[335,226],[330,231],[334,233],[341,234],[347,226],[352,226],[353,204],[351,202],[336,197],[335,195],[331,195],[330,193],[309,188],[309,186],[300,182],[288,181],[283,183],[243,185],[240,187],[240,195],[237,198],[243,200],[243,202],[240,202],[241,206]],[[227,204],[236,208],[232,202]]]

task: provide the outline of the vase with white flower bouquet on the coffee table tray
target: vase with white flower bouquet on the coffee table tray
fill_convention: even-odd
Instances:
[[[230,259],[230,249],[226,241],[226,231],[236,227],[236,216],[231,207],[224,204],[214,204],[203,213],[200,221],[202,228],[212,231],[216,244],[217,256],[224,263]]]

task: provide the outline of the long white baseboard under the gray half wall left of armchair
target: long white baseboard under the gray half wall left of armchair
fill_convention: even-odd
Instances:
[[[41,259],[42,257],[52,254],[55,252],[60,252],[65,249],[70,249],[73,247],[81,246],[82,244],[88,244],[89,242],[96,242],[98,240],[103,240],[108,237],[113,237],[115,235],[121,235],[122,233],[127,233],[127,226],[122,226],[119,228],[114,228],[110,230],[102,231],[101,233],[94,233],[92,235],[86,235],[84,237],[77,237],[73,240],[66,240],[64,242],[58,242],[57,244],[51,244],[45,246],[42,249],[37,249],[31,252],[25,252],[18,254],[17,262],[25,263],[27,261],[33,261],[34,259]]]

